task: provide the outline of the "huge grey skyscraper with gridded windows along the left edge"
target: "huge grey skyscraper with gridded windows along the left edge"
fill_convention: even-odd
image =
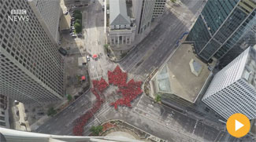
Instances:
[[[23,103],[63,97],[63,62],[50,36],[58,26],[42,16],[51,11],[43,6],[35,9],[36,4],[43,5],[32,0],[0,1],[0,94]]]

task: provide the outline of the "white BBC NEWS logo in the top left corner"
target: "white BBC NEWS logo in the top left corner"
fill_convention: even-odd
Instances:
[[[14,21],[14,22],[17,22],[17,21],[20,21],[20,20],[23,20],[23,21],[28,21],[29,16],[27,16],[27,10],[26,9],[12,9],[11,10],[11,15],[8,16],[8,20],[11,20],[11,21]]]

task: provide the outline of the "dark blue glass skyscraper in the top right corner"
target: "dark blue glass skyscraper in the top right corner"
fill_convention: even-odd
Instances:
[[[255,0],[208,0],[187,41],[203,60],[223,58],[231,49],[237,54],[255,44]]]

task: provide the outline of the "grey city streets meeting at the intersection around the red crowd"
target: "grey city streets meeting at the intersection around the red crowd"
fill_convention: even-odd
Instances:
[[[147,75],[163,64],[176,49],[178,38],[191,27],[190,14],[195,15],[202,4],[203,1],[184,1],[183,6],[189,9],[187,13],[181,13],[179,16],[167,11],[163,15],[158,26],[119,63],[121,69],[128,72],[128,80],[135,78],[135,81],[145,81]],[[104,52],[102,5],[102,0],[96,1],[88,5],[83,12],[84,49],[81,50],[86,50],[90,56],[98,56],[97,59],[90,58],[88,63],[91,79],[105,78],[108,82],[107,71],[113,71],[117,64],[109,61]],[[114,96],[115,89],[109,86],[105,94],[109,102],[103,104],[94,119],[87,123],[84,135],[90,133],[91,126],[97,126],[110,119],[121,119],[168,141],[215,141],[224,140],[226,137],[219,129],[207,126],[198,119],[190,118],[170,107],[154,104],[153,100],[144,94],[133,100],[132,108],[118,107],[115,110],[109,106],[109,103],[118,97]],[[74,120],[84,114],[95,100],[91,91],[83,93],[73,104],[40,126],[36,132],[72,135]]]

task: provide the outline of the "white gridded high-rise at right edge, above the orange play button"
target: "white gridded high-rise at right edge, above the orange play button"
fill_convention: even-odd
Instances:
[[[256,46],[246,49],[219,71],[202,101],[223,118],[235,113],[256,118]]]

